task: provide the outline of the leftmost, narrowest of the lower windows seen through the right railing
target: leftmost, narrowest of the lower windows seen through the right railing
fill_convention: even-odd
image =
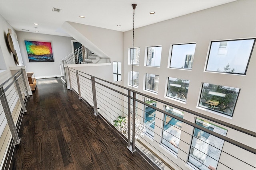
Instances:
[[[156,102],[154,100],[145,98],[145,103],[156,107]],[[154,136],[155,120],[156,120],[156,109],[153,109],[151,107],[144,105],[144,125],[146,127],[146,132],[152,137]]]

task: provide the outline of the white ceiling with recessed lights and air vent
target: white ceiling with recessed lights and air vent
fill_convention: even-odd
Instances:
[[[204,10],[234,0],[0,0],[0,14],[17,31],[69,36],[62,31],[64,21],[72,21],[117,31],[135,28]],[[52,8],[60,8],[60,13]],[[150,11],[156,12],[149,14]],[[79,16],[85,18],[79,18]],[[38,23],[39,25],[33,25]],[[121,25],[120,27],[116,25]],[[35,28],[38,27],[38,28]]]

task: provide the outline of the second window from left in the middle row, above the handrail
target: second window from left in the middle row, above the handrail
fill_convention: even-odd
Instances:
[[[158,92],[159,76],[155,74],[146,74],[146,90]]]

